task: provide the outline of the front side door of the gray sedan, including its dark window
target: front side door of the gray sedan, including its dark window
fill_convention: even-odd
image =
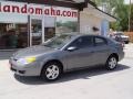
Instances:
[[[92,66],[93,63],[93,37],[82,36],[73,41],[69,47],[76,47],[73,51],[65,51],[68,69]]]

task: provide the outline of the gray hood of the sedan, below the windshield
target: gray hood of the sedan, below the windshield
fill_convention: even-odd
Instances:
[[[55,51],[55,50],[38,45],[38,46],[32,46],[32,47],[27,47],[27,48],[20,50],[13,54],[13,57],[20,58],[20,57],[27,57],[27,56],[38,56],[38,55],[43,55],[45,53],[50,53],[53,51]]]

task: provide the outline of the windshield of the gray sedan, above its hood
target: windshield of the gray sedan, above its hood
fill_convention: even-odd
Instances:
[[[43,45],[52,48],[62,48],[72,37],[73,35],[63,34],[48,40]]]

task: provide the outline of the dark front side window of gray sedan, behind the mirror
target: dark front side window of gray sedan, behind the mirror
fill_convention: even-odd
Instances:
[[[75,40],[74,42],[72,42],[70,44],[70,46],[75,46],[79,48],[83,48],[83,47],[89,47],[93,45],[93,37],[92,36],[82,36],[79,37],[78,40]]]

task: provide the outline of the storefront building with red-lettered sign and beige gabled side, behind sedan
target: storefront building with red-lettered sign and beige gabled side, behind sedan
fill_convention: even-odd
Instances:
[[[0,50],[39,45],[66,32],[105,35],[108,22],[114,20],[88,0],[2,0]]]

